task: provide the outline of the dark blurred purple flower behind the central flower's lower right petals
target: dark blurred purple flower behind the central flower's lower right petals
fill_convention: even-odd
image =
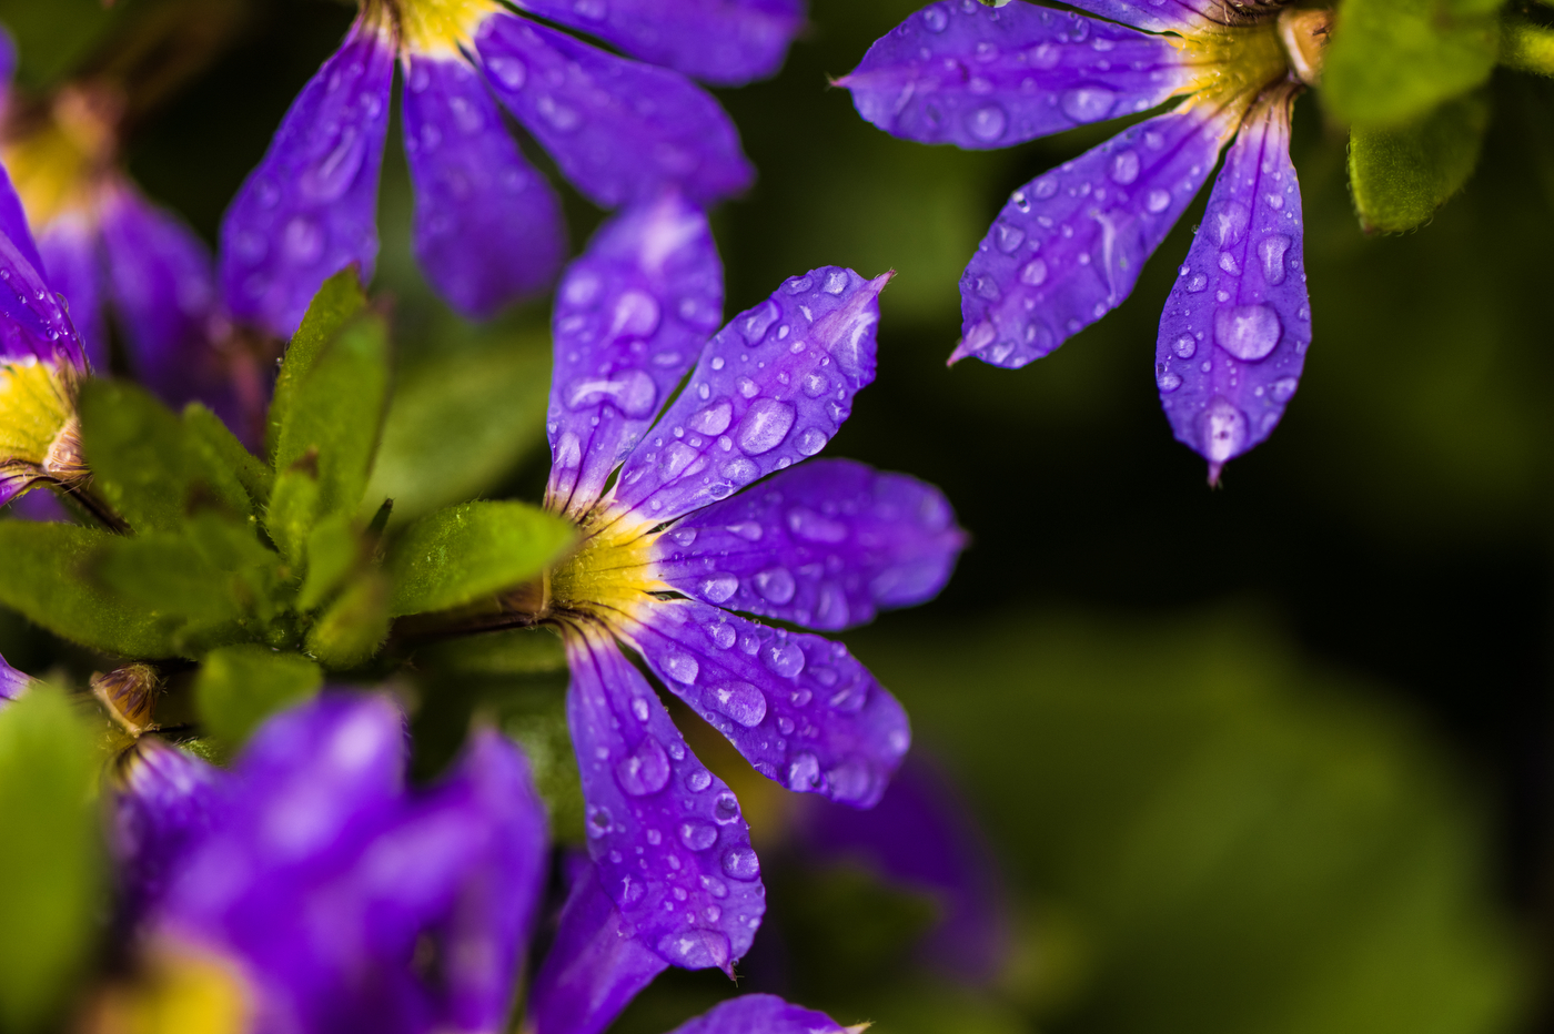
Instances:
[[[926,964],[973,984],[998,978],[1009,947],[998,868],[965,803],[931,764],[914,755],[862,814],[805,800],[794,831],[807,860],[858,863],[939,904],[917,949]]]

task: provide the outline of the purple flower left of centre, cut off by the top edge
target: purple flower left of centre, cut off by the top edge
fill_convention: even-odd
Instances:
[[[754,172],[718,102],[687,76],[771,75],[800,0],[533,0],[631,61],[494,0],[362,0],[362,14],[286,113],[227,211],[221,278],[233,312],[289,337],[329,275],[378,255],[376,196],[393,62],[404,76],[413,245],[438,293],[485,318],[555,276],[555,193],[519,152],[500,102],[591,200],[614,208],[674,186],[710,203]],[[645,64],[651,62],[651,64]]]

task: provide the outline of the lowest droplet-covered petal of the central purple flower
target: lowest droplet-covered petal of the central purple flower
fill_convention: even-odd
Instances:
[[[567,725],[600,882],[665,961],[732,977],[766,911],[740,803],[609,638],[573,630],[567,658]]]

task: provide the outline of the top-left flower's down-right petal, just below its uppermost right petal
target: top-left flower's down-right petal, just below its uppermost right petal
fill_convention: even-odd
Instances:
[[[491,88],[589,199],[614,208],[678,186],[710,203],[755,171],[706,90],[511,14],[488,16],[476,47]]]

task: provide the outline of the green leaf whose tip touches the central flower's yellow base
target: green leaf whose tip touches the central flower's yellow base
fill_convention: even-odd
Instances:
[[[446,610],[521,585],[575,539],[572,522],[527,503],[462,503],[427,514],[388,548],[388,610]]]

